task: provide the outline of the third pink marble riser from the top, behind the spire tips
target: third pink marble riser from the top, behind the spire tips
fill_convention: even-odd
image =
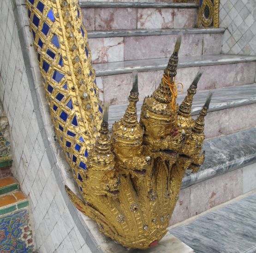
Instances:
[[[213,66],[179,68],[176,82],[181,82],[186,92],[199,70],[204,73],[198,83],[198,90],[252,83],[255,79],[256,63],[234,63]],[[215,73],[218,73],[216,75]],[[138,72],[139,98],[151,95],[161,82],[163,70]],[[106,75],[97,77],[97,83],[103,82],[104,100],[110,104],[127,103],[131,90],[132,74]]]

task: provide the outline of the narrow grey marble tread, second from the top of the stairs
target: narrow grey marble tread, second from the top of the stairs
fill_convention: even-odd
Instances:
[[[182,34],[216,34],[224,33],[224,28],[205,29],[128,29],[111,31],[89,31],[88,38],[106,37],[129,37],[129,36],[149,36],[149,35],[177,35]]]

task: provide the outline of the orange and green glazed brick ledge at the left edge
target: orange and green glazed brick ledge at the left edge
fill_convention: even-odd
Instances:
[[[21,191],[0,196],[0,216],[18,211],[28,205],[28,198]]]

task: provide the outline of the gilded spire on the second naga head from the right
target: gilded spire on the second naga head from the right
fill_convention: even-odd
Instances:
[[[179,106],[178,115],[189,117],[191,116],[191,107],[193,102],[193,97],[196,94],[197,83],[199,82],[202,76],[202,71],[198,71],[194,81],[191,86],[188,88],[188,94],[184,98],[183,102]]]

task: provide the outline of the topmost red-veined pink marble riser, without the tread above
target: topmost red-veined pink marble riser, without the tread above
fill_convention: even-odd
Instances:
[[[82,8],[88,31],[196,27],[196,8]]]

